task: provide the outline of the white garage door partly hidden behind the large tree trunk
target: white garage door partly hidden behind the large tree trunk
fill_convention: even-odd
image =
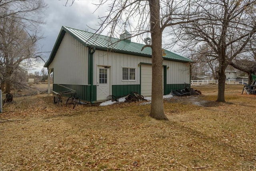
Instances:
[[[164,70],[163,70],[164,71]],[[141,95],[151,96],[152,88],[152,66],[151,65],[141,65],[141,74],[140,74],[140,83],[141,83]],[[163,93],[164,93],[164,72],[163,72]]]

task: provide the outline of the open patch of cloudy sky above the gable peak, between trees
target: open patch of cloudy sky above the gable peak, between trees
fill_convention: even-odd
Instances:
[[[52,51],[58,34],[62,26],[76,28],[80,30],[89,29],[86,25],[97,28],[98,16],[103,16],[106,10],[97,10],[94,14],[98,0],[76,0],[72,6],[64,6],[66,0],[45,0],[48,8],[45,10],[45,24],[42,26],[41,34],[44,39],[40,40],[42,52]],[[71,2],[71,1],[70,1]],[[93,30],[90,30],[94,32]],[[45,54],[48,59],[50,53]],[[37,70],[41,70],[41,64]]]

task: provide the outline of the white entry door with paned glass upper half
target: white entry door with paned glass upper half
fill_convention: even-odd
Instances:
[[[110,95],[110,69],[98,66],[97,68],[97,100],[106,100]]]

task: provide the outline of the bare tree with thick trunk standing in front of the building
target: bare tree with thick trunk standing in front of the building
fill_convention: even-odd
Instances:
[[[66,1],[68,2],[68,0]],[[70,0],[71,2],[71,0]],[[106,5],[108,0],[100,0],[98,8]],[[74,3],[72,0],[71,3]],[[108,4],[108,15],[101,17],[97,33],[109,29],[108,36],[118,35],[123,30],[122,24],[134,20],[132,36],[150,34],[152,49],[152,102],[150,116],[156,119],[168,120],[164,114],[162,97],[162,34],[165,28],[191,22],[194,16],[190,13],[192,1],[175,0],[114,0]],[[198,20],[198,18],[196,18]]]

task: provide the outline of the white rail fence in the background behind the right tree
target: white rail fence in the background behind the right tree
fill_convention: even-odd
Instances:
[[[226,80],[226,84],[248,84],[247,79],[242,80]],[[218,84],[218,80],[191,80],[191,85],[199,85],[199,84]]]

